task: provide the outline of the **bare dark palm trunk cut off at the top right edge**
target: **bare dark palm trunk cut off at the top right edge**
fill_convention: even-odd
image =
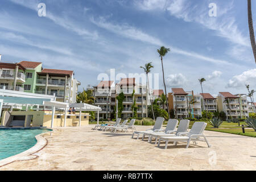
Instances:
[[[247,0],[248,5],[248,24],[249,24],[249,32],[251,39],[251,48],[253,48],[253,55],[256,63],[256,43],[253,29],[253,15],[251,14],[251,0]]]

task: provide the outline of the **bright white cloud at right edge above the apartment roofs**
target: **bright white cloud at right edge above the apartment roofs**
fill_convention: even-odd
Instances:
[[[226,88],[242,88],[246,84],[256,86],[256,69],[250,69],[241,75],[236,75],[229,80]]]

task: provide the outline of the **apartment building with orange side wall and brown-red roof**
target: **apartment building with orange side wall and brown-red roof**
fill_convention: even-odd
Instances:
[[[175,118],[188,118],[188,93],[183,88],[172,88],[172,93],[168,93],[169,109],[174,109]]]

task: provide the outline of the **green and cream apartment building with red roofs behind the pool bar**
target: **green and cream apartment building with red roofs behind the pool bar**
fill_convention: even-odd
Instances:
[[[39,62],[0,62],[1,89],[55,95],[56,101],[60,102],[76,102],[77,89],[81,83],[73,75],[73,71],[43,69]]]

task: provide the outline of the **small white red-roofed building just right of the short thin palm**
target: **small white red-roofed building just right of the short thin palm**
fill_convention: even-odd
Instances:
[[[210,113],[217,112],[217,98],[214,98],[209,93],[200,93],[200,100],[202,110],[207,110]]]

